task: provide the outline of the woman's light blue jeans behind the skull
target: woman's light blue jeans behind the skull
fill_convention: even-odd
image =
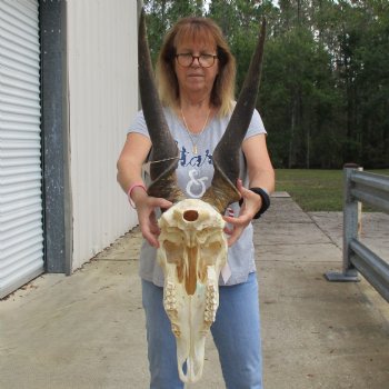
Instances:
[[[142,280],[150,389],[183,389],[178,377],[176,338],[162,305],[163,289]],[[219,288],[219,309],[211,326],[227,389],[262,389],[258,282]]]

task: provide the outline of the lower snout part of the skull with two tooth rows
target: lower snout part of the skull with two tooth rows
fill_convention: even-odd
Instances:
[[[169,268],[168,273],[176,271],[173,266]],[[206,338],[219,307],[217,273],[220,271],[209,266],[206,283],[198,282],[192,296],[186,293],[183,285],[174,283],[169,275],[166,277],[163,307],[176,337],[179,377],[186,383],[197,382],[202,376]]]

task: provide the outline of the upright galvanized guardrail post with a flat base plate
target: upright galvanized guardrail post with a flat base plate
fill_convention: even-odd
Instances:
[[[355,163],[347,163],[343,167],[343,270],[342,272],[327,272],[326,278],[329,281],[356,282],[360,281],[358,271],[351,262],[352,251],[350,242],[358,238],[359,211],[358,201],[351,196],[351,174],[358,170]]]

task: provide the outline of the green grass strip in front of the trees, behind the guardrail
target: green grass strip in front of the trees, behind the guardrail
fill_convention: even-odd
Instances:
[[[389,176],[389,169],[369,170]],[[276,190],[287,191],[306,211],[341,211],[343,201],[343,171],[315,169],[277,169]],[[372,211],[363,206],[363,211]]]

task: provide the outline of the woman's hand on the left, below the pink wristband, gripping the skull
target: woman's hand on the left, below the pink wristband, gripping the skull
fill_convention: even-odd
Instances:
[[[138,212],[139,227],[142,236],[152,247],[158,249],[160,229],[157,222],[156,208],[168,209],[172,206],[172,202],[162,198],[150,197],[141,188],[136,188],[131,194]]]

